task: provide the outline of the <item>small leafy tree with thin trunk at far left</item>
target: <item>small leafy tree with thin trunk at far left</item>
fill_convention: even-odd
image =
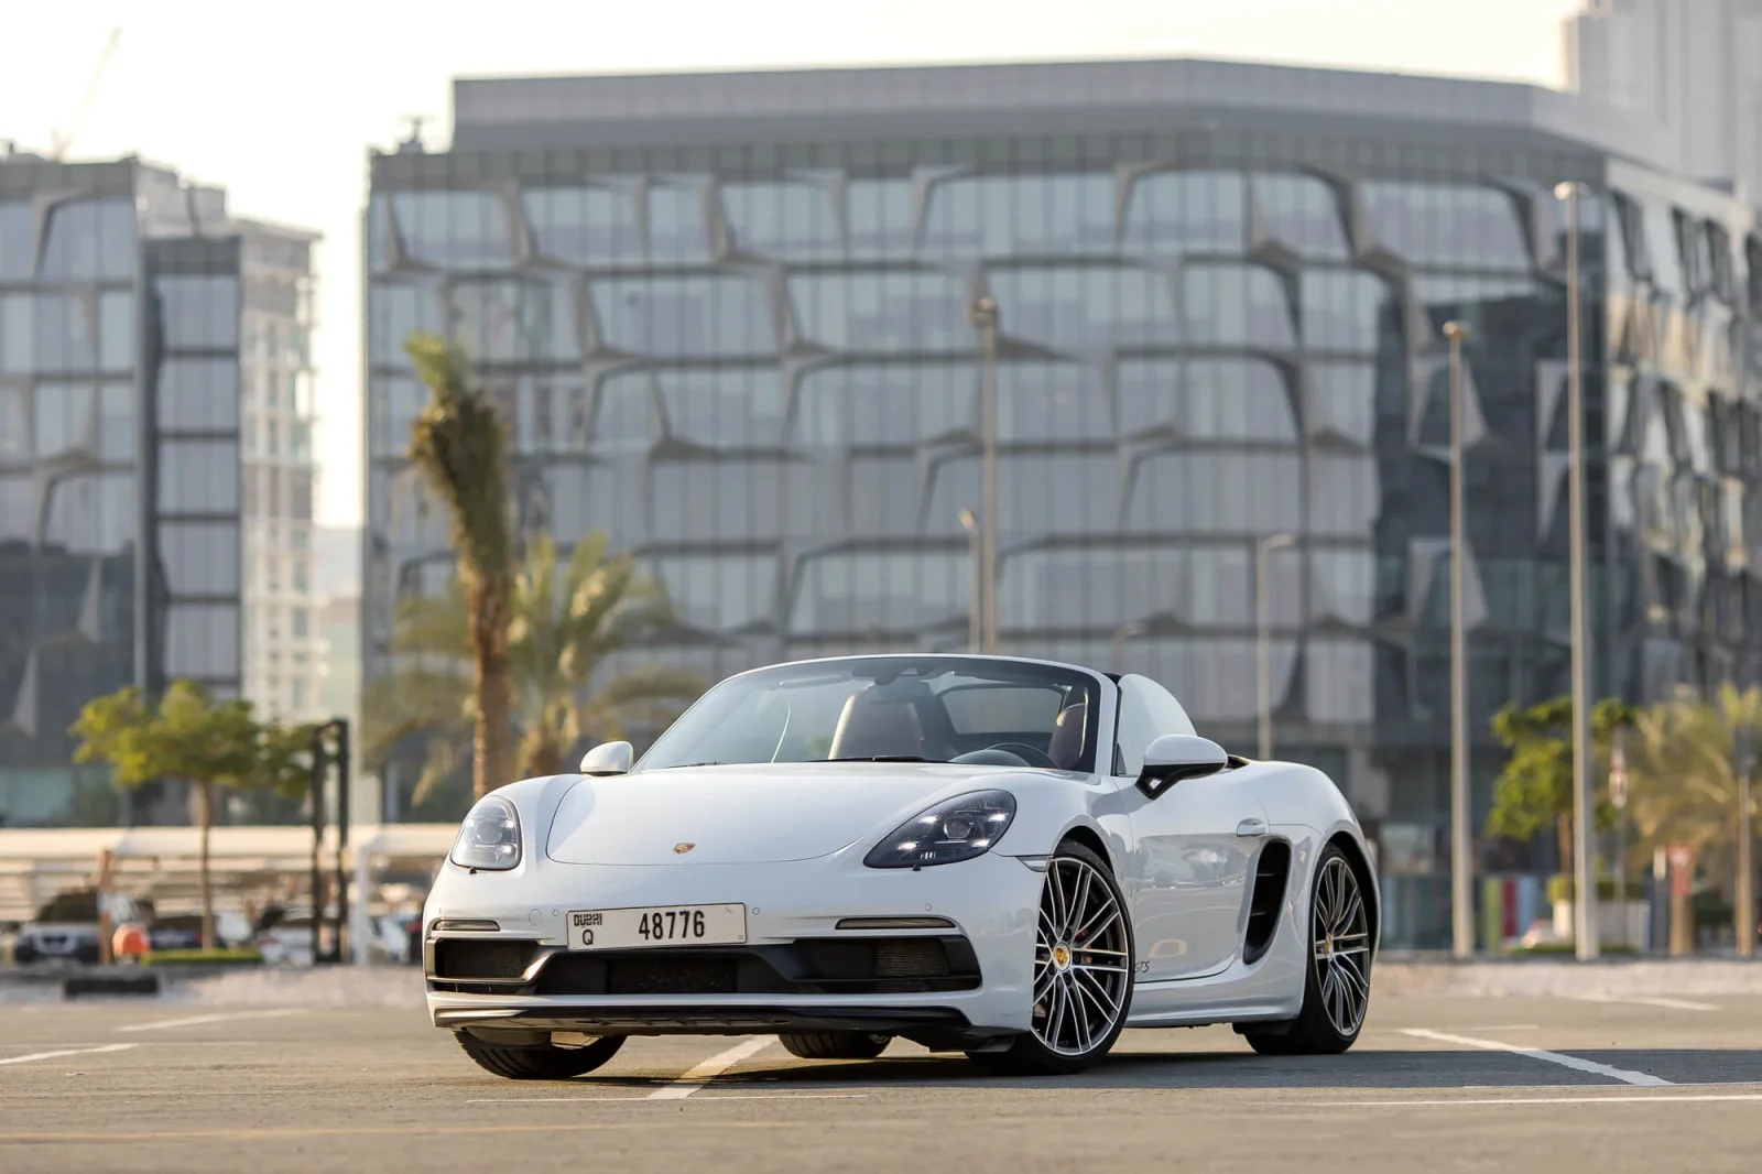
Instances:
[[[116,786],[134,790],[159,779],[190,783],[201,843],[203,947],[213,948],[208,844],[217,791],[305,786],[298,769],[300,735],[264,726],[252,716],[250,702],[215,702],[190,680],[174,682],[157,707],[148,707],[134,686],[95,698],[81,709],[69,732],[79,739],[74,762],[109,763]]]

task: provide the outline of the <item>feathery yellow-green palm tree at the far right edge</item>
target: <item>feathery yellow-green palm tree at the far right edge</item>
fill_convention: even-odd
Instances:
[[[1693,689],[1644,710],[1635,723],[1639,747],[1630,806],[1644,843],[1686,848],[1695,864],[1725,853],[1739,827],[1734,733],[1762,730],[1762,689],[1720,686],[1711,702]],[[1720,860],[1723,864],[1723,860]],[[1739,885],[1739,892],[1744,892]],[[1751,910],[1737,910],[1737,933],[1751,934]],[[1695,913],[1688,887],[1672,888],[1670,954],[1695,948]]]

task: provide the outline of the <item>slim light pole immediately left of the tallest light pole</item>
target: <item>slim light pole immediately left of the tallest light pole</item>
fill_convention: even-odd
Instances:
[[[1475,954],[1473,837],[1468,818],[1468,541],[1462,504],[1462,340],[1468,324],[1445,323],[1450,340],[1450,936],[1455,957]]]

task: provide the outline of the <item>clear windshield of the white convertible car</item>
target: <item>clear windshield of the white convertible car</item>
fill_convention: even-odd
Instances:
[[[761,762],[959,762],[1094,770],[1096,679],[1029,661],[885,656],[715,686],[636,770]]]

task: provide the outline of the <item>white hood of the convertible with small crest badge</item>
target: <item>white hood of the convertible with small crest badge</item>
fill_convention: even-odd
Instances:
[[[944,795],[1006,788],[1008,767],[754,763],[583,777],[546,855],[562,864],[775,864],[881,837]],[[689,850],[680,850],[691,844]]]

